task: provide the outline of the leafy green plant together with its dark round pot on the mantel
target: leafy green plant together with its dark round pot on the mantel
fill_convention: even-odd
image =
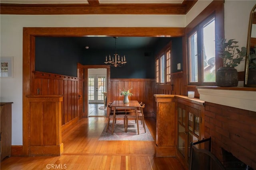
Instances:
[[[230,39],[219,39],[217,50],[219,57],[223,59],[223,67],[220,67],[216,72],[216,86],[234,87],[238,85],[238,72],[234,68],[245,59],[246,47],[238,49],[238,41]]]

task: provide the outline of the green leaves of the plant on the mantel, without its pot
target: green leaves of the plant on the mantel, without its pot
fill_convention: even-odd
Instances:
[[[225,67],[235,67],[240,64],[241,61],[245,59],[246,47],[238,49],[238,41],[235,39],[230,39],[226,42],[226,39],[220,39],[216,42],[217,50],[219,51],[219,57],[223,59],[223,66]]]

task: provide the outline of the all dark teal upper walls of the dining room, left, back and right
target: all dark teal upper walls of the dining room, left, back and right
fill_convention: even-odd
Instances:
[[[155,78],[155,57],[172,41],[172,72],[177,63],[182,66],[182,38],[161,37],[154,46],[143,49],[117,50],[126,55],[126,65],[111,67],[110,78]],[[84,65],[105,64],[106,55],[114,50],[85,49],[74,37],[36,37],[36,71],[67,76],[77,76],[77,63]]]

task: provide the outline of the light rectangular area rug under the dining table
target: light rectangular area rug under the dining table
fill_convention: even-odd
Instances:
[[[112,131],[112,121],[110,121],[110,125],[108,127],[108,132],[106,132],[105,126],[100,138],[100,141],[154,141],[150,131],[146,126],[146,133],[144,131],[143,125],[139,121],[139,130],[140,135],[137,135],[137,125],[134,120],[128,121],[128,129],[127,133],[124,132],[124,121],[117,120],[116,124],[114,125],[114,134],[111,135]]]

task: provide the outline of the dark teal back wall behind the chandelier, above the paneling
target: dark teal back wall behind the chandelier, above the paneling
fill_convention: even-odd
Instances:
[[[120,57],[125,55],[127,63],[122,67],[111,67],[110,78],[154,78],[154,56],[149,49],[119,50],[117,53]],[[109,54],[114,56],[114,51],[84,50],[82,64],[105,64]]]

